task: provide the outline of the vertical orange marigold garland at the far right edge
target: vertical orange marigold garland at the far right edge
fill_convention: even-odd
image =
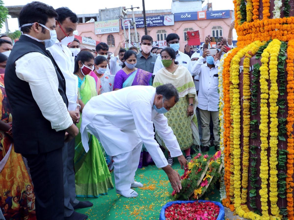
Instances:
[[[288,54],[288,59],[287,59],[287,72],[288,72],[288,77],[287,77],[287,100],[288,100],[288,117],[287,117],[287,122],[288,124],[286,125],[287,128],[287,176],[286,177],[286,191],[287,191],[287,209],[288,209],[288,219],[289,220],[294,220],[294,212],[293,212],[293,189],[292,187],[294,186],[293,183],[293,163],[294,163],[294,136],[292,134],[293,132],[293,121],[294,121],[294,67],[293,67],[293,62],[294,62],[294,40],[290,40],[288,42],[288,48],[287,48],[287,54]]]

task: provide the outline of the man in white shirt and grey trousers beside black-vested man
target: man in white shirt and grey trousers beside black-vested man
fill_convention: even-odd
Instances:
[[[78,77],[74,75],[74,65],[72,63],[71,51],[67,47],[74,39],[78,18],[69,8],[61,7],[55,10],[58,14],[56,20],[56,43],[48,48],[56,61],[59,69],[64,75],[66,82],[66,97],[69,101],[68,111],[74,123],[80,119],[80,105],[78,104]],[[62,148],[63,176],[64,176],[64,219],[75,220],[85,219],[85,214],[74,211],[77,208],[93,206],[88,201],[78,201],[76,199],[76,185],[74,175],[74,153],[75,139],[64,143]]]

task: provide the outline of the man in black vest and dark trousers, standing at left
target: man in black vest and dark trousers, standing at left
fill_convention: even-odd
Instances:
[[[26,4],[20,12],[23,34],[5,70],[5,90],[12,108],[14,149],[28,161],[38,220],[64,219],[62,147],[77,134],[67,110],[64,77],[51,53],[56,41],[52,6]]]

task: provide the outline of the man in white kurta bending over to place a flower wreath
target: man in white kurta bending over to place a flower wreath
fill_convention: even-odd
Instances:
[[[154,123],[171,156],[178,157],[181,167],[186,169],[187,160],[166,117],[161,114],[178,99],[178,91],[172,84],[157,88],[130,86],[93,97],[83,108],[80,129],[83,146],[88,151],[88,131],[101,141],[105,152],[113,156],[118,194],[136,197],[138,193],[131,187],[143,187],[134,179],[143,142],[156,166],[166,172],[173,189],[180,192],[180,175],[168,165],[153,132]]]

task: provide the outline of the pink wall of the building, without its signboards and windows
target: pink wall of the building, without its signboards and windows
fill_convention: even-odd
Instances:
[[[228,37],[228,31],[230,29],[231,18],[223,18],[223,19],[208,19],[208,20],[195,20],[195,21],[175,21],[173,26],[159,26],[159,27],[148,27],[147,32],[153,40],[156,39],[156,32],[158,30],[166,30],[167,35],[170,33],[177,33],[180,36],[180,51],[184,51],[184,47],[187,41],[184,40],[184,29],[185,28],[194,28],[194,30],[199,30],[200,41],[204,42],[205,37],[207,35],[212,34],[211,28],[213,26],[221,26],[223,28],[223,36]],[[114,52],[115,48],[118,46],[119,42],[122,40],[125,42],[123,30],[121,29],[121,20],[120,20],[120,32],[117,33],[107,33],[95,35],[94,22],[92,23],[79,23],[77,25],[78,35],[82,37],[91,37],[93,40],[97,40],[100,42],[107,43],[107,36],[112,34],[115,40],[115,47],[110,47],[109,51]],[[128,29],[126,29],[128,35]],[[135,32],[135,30],[131,29],[131,32]],[[145,34],[144,28],[137,28],[137,32],[140,36]],[[160,39],[159,39],[160,40]],[[139,39],[141,42],[141,38]],[[92,48],[91,46],[87,46],[88,48]]]

